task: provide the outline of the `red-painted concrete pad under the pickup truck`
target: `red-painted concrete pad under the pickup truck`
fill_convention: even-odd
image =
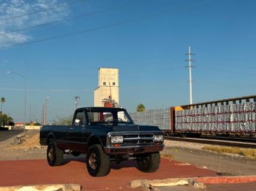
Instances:
[[[164,179],[175,177],[212,177],[216,172],[192,165],[177,165],[177,161],[162,159],[160,168],[154,173],[143,173],[136,169],[136,162],[112,165],[106,177],[91,177],[85,160],[67,160],[65,165],[51,167],[46,160],[0,161],[0,186],[29,184],[80,184],[82,190],[136,190],[129,182],[138,179]],[[137,189],[139,190],[139,189]]]

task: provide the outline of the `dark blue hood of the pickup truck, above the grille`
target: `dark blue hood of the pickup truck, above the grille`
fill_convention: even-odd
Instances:
[[[148,125],[124,125],[118,124],[116,126],[112,126],[113,132],[127,132],[127,131],[160,131],[157,126],[148,126]]]

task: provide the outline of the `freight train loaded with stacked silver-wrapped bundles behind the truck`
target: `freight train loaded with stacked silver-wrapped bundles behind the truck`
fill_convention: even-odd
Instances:
[[[157,125],[166,135],[256,133],[256,95],[130,113],[138,124]]]

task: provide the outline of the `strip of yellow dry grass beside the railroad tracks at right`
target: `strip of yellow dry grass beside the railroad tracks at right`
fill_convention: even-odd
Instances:
[[[218,153],[239,154],[242,156],[246,156],[249,159],[256,159],[256,149],[255,148],[204,146],[203,150],[216,151]]]

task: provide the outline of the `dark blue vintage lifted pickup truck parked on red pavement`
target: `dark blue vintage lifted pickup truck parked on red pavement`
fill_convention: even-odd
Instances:
[[[40,130],[50,166],[61,165],[64,154],[84,153],[93,177],[107,175],[111,163],[124,160],[136,160],[142,172],[155,172],[163,139],[157,126],[135,125],[123,108],[78,108],[71,125],[44,125]]]

